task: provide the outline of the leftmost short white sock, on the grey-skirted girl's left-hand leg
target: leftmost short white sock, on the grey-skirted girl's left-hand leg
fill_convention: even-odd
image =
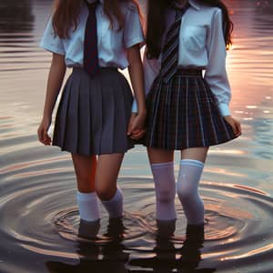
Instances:
[[[83,193],[77,191],[76,200],[79,208],[80,218],[92,222],[99,218],[97,197],[95,192]]]

